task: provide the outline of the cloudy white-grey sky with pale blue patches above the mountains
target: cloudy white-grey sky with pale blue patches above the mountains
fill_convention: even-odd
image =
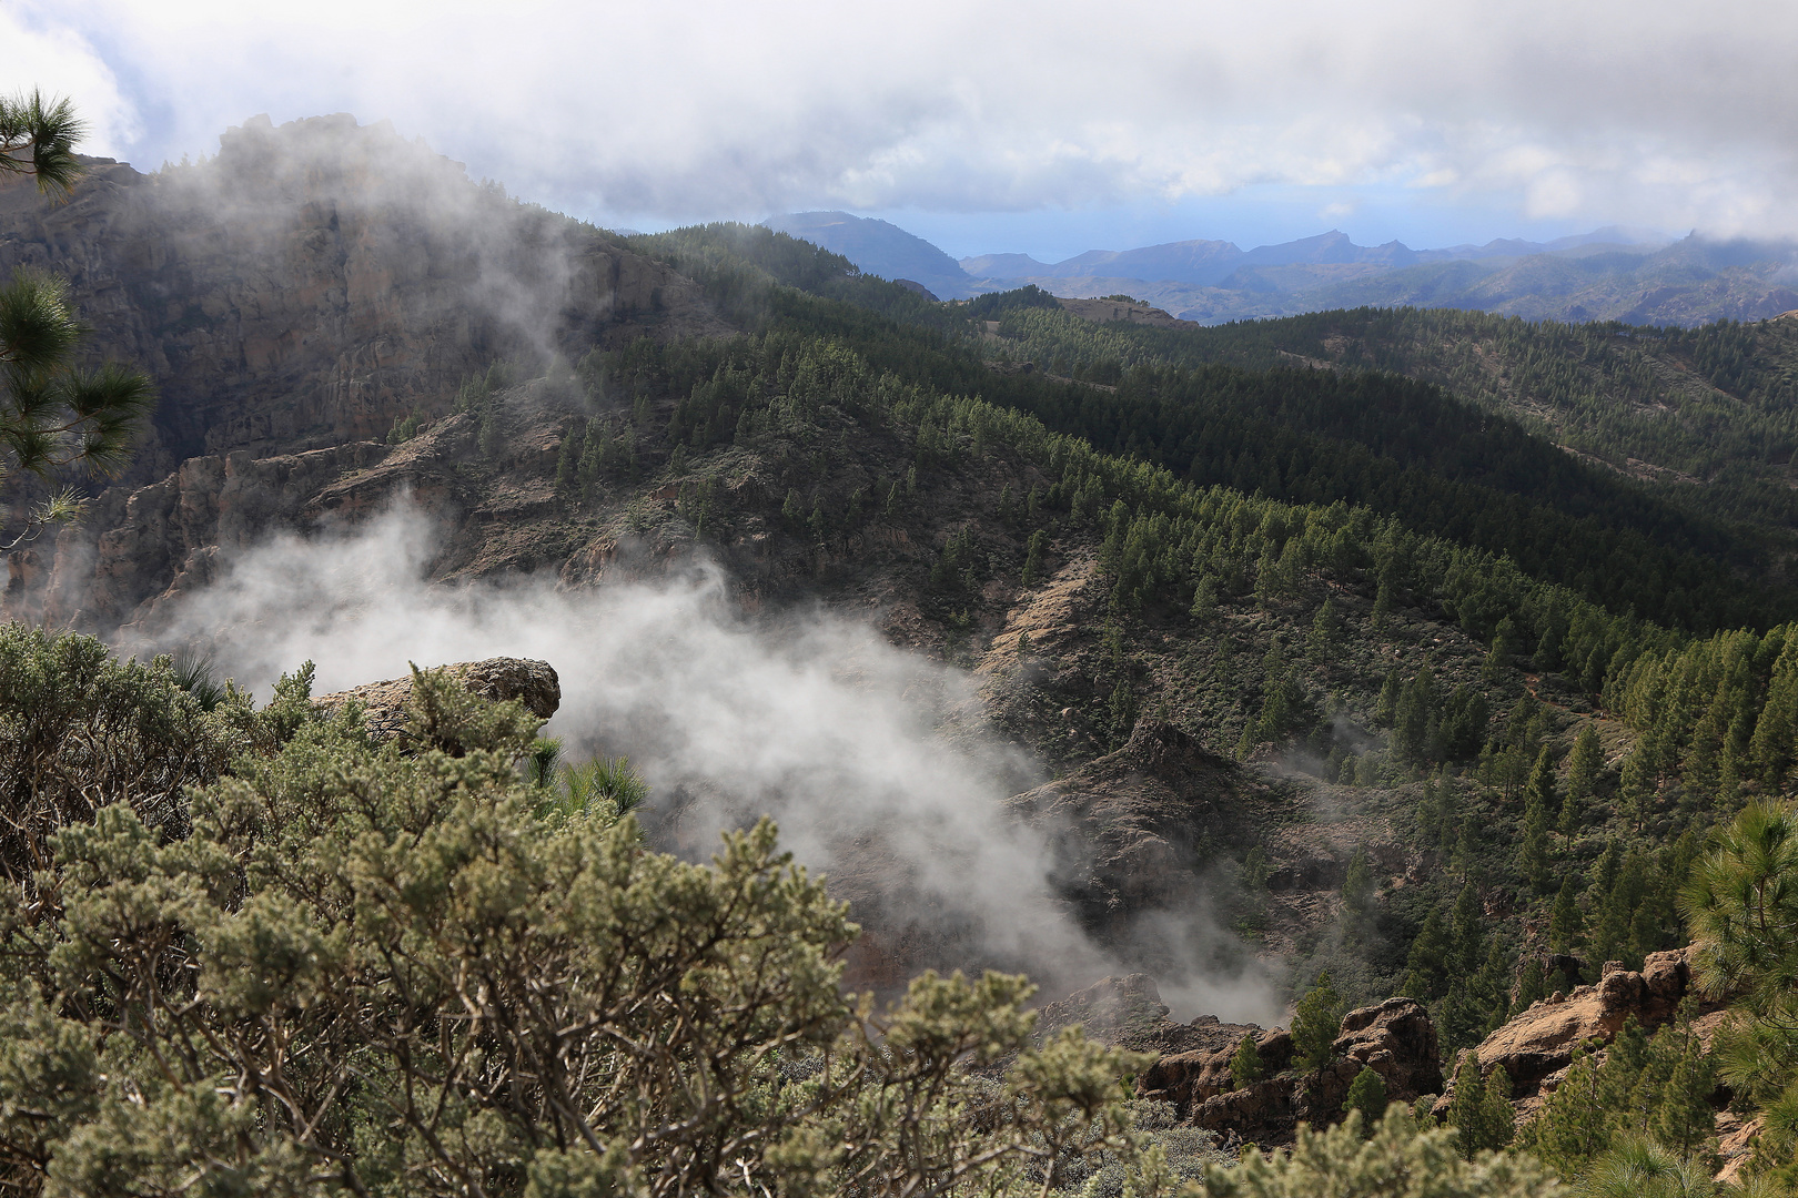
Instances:
[[[140,169],[351,111],[606,225],[847,208],[1048,257],[1798,233],[1794,0],[0,0],[0,38],[7,86]]]

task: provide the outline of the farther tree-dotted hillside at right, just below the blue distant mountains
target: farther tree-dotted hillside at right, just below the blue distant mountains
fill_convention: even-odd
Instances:
[[[1798,514],[1798,320],[1645,329],[1356,309],[1174,330],[1018,305],[1005,332],[1018,356],[1082,377],[1102,363],[1401,374],[1656,483],[1667,503],[1778,528]]]

